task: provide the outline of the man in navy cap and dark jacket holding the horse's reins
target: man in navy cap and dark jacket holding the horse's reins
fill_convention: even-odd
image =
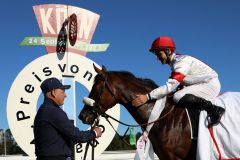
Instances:
[[[48,78],[41,84],[44,102],[34,120],[35,154],[37,160],[71,160],[71,146],[101,137],[100,128],[80,131],[60,108],[66,97],[63,85],[57,78]]]

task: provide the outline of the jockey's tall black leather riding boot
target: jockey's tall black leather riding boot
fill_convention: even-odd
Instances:
[[[225,112],[224,108],[213,105],[212,102],[193,94],[186,94],[179,100],[178,104],[207,111],[207,119],[209,120],[208,127],[218,125]]]

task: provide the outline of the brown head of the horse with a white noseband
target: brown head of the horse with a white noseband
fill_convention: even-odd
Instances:
[[[78,118],[85,124],[93,124],[94,120],[104,114],[108,109],[117,103],[115,90],[110,83],[109,75],[106,68],[97,68],[93,65],[98,73],[90,91],[88,98],[85,98],[85,105],[80,112]]]

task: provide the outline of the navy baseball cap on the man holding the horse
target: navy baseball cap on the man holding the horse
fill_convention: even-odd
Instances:
[[[42,92],[45,94],[47,92],[50,92],[54,89],[69,89],[71,86],[70,85],[63,85],[57,78],[48,78],[45,79],[42,84],[41,84],[41,89]]]

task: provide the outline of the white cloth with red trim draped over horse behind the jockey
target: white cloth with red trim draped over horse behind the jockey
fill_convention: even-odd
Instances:
[[[214,104],[226,111],[212,129],[206,127],[207,113],[201,112],[197,160],[240,160],[240,92],[226,92]]]

